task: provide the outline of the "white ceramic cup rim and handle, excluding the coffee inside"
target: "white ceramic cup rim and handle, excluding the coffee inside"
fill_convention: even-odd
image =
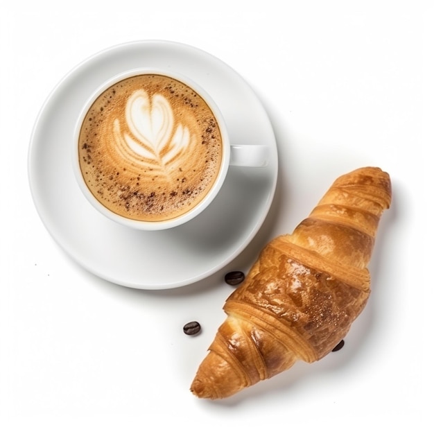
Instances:
[[[216,174],[214,183],[209,188],[209,191],[207,191],[205,197],[203,197],[196,205],[191,207],[191,209],[184,212],[184,214],[167,218],[165,220],[139,220],[138,218],[130,218],[130,216],[121,215],[109,209],[106,205],[103,205],[103,202],[101,202],[100,199],[96,198],[96,193],[92,193],[92,191],[89,189],[89,186],[87,185],[87,182],[85,182],[85,179],[83,177],[82,168],[80,166],[80,132],[82,130],[83,121],[85,121],[85,118],[89,113],[89,109],[92,107],[98,96],[103,94],[107,89],[110,89],[110,87],[112,87],[116,83],[119,83],[125,79],[150,74],[157,76],[166,76],[168,78],[184,83],[184,85],[193,89],[193,92],[198,94],[200,98],[205,101],[212,114],[214,115],[221,137],[221,163],[218,166],[218,169],[216,169],[218,173]],[[229,134],[227,132],[225,119],[223,118],[223,114],[220,112],[218,105],[213,100],[213,98],[209,96],[205,89],[202,89],[202,87],[200,87],[197,83],[194,83],[193,80],[191,80],[190,78],[183,76],[180,73],[166,71],[164,69],[141,68],[125,71],[117,76],[114,76],[110,80],[107,80],[107,82],[103,83],[101,87],[98,87],[94,94],[89,97],[89,100],[87,101],[87,103],[85,103],[83,110],[80,112],[80,116],[78,116],[76,131],[73,140],[72,162],[73,172],[76,175],[76,180],[78,182],[78,185],[80,186],[81,191],[83,191],[83,194],[87,198],[87,200],[89,200],[89,202],[99,212],[101,212],[101,214],[107,216],[107,218],[114,220],[116,223],[120,223],[121,225],[125,225],[133,229],[159,230],[182,225],[189,220],[195,218],[202,211],[204,211],[218,195],[218,192],[220,191],[221,187],[225,182],[229,166],[265,167],[268,165],[269,153],[270,148],[266,144],[260,146],[249,144],[231,144],[229,141]],[[81,158],[83,159],[83,155],[81,156]],[[119,171],[120,170],[121,168],[119,167]]]

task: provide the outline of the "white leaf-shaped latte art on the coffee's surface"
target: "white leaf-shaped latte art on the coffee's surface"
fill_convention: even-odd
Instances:
[[[196,145],[188,127],[175,127],[171,104],[160,94],[151,99],[143,89],[134,92],[128,99],[125,119],[129,132],[123,134],[119,119],[114,121],[116,144],[119,153],[128,158],[137,155],[137,164],[145,159],[149,168],[165,172],[168,164],[182,157],[187,146]]]

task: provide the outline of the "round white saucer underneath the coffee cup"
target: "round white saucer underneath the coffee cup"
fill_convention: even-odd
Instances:
[[[229,168],[218,198],[203,214],[157,232],[127,229],[98,214],[80,193],[70,152],[89,94],[121,71],[148,66],[191,76],[220,105],[233,143],[268,144],[271,155],[266,168]],[[98,53],[55,87],[35,123],[28,171],[44,225],[81,266],[123,286],[174,288],[220,270],[257,234],[275,194],[277,146],[257,96],[227,64],[184,44],[141,41]]]

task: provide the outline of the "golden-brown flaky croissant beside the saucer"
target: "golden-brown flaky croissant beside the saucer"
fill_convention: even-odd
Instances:
[[[338,177],[293,234],[270,241],[226,300],[191,392],[226,398],[329,354],[367,303],[366,266],[391,198],[388,173],[359,168]]]

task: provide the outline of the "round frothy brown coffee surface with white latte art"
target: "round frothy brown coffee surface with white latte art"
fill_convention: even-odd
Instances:
[[[161,222],[207,196],[223,144],[216,117],[191,87],[140,74],[96,98],[80,129],[78,157],[87,187],[107,209]]]

